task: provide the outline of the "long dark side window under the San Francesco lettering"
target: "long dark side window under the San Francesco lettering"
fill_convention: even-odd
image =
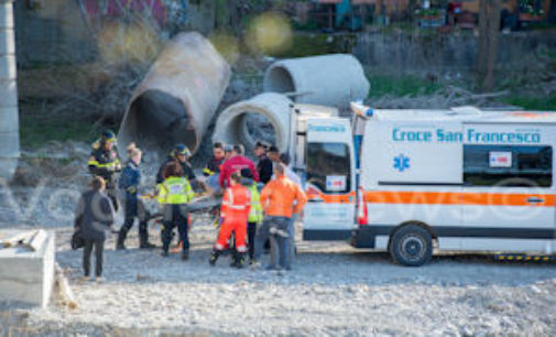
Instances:
[[[550,187],[553,148],[536,145],[464,145],[467,186]]]

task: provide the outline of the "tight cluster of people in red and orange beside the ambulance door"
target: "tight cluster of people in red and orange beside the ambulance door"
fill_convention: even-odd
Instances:
[[[222,157],[220,149],[224,149]],[[231,265],[241,268],[249,252],[249,263],[259,267],[264,244],[270,240],[268,269],[290,270],[294,256],[293,216],[303,209],[307,198],[299,178],[287,167],[288,155],[281,155],[277,148],[263,142],[257,142],[253,150],[259,160],[257,165],[243,155],[241,145],[226,149],[215,143],[214,152],[207,168],[215,161],[221,161],[217,165],[219,170],[210,176],[212,181],[218,177],[217,188],[224,191],[224,197],[220,231],[209,263],[214,265],[222,251],[230,248],[228,242],[233,233]]]

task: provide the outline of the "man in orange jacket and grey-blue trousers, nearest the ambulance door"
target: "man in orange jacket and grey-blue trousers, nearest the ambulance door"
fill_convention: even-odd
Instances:
[[[286,251],[286,240],[291,232],[288,227],[292,225],[292,215],[303,209],[307,197],[299,186],[285,176],[284,164],[275,164],[274,174],[276,178],[270,181],[261,192],[264,220],[257,231],[253,265],[259,265],[257,261],[262,254],[263,243],[272,233],[273,240],[271,242],[275,242],[277,246],[280,267],[291,270],[290,253]],[[276,265],[272,263],[276,261],[276,257],[272,257],[276,249],[271,249],[269,269],[276,269]]]

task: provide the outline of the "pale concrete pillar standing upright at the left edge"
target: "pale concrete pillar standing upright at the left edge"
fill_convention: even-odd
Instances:
[[[0,178],[11,180],[20,157],[13,0],[0,0]]]

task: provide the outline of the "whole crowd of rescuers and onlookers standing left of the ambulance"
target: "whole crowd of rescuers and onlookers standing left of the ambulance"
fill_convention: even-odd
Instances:
[[[94,176],[90,189],[81,195],[75,218],[75,235],[84,247],[85,278],[90,275],[90,257],[96,254],[97,280],[102,280],[102,252],[106,232],[115,221],[115,213],[124,206],[124,221],[116,242],[117,250],[126,249],[126,239],[135,219],[139,221],[139,248],[152,249],[148,221],[151,217],[140,197],[142,151],[128,146],[128,161],[122,166],[116,150],[116,135],[102,132],[92,144],[88,167]],[[248,254],[250,264],[260,265],[265,241],[271,241],[269,269],[291,269],[294,252],[294,214],[306,203],[299,178],[287,167],[290,157],[275,146],[258,142],[254,148],[258,163],[244,155],[240,144],[216,142],[212,156],[203,170],[205,180],[198,180],[189,164],[187,146],[176,144],[156,175],[156,192],[152,197],[161,205],[163,215],[162,256],[167,257],[177,228],[182,259],[189,258],[188,210],[195,191],[222,196],[219,232],[210,254],[214,265],[229,249],[231,265],[241,268]],[[117,173],[121,173],[117,180]],[[119,189],[119,193],[118,193]],[[120,195],[120,198],[118,198]],[[232,236],[233,235],[233,236]]]

